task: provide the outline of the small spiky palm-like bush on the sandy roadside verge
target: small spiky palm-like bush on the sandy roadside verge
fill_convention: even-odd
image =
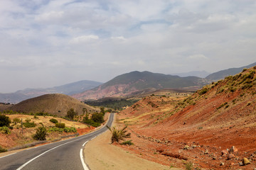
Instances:
[[[125,130],[127,126],[122,128],[122,130],[118,130],[116,127],[111,129],[109,126],[107,126],[107,128],[112,132],[111,143],[119,142],[120,140],[131,137],[131,133],[127,133],[127,130]]]

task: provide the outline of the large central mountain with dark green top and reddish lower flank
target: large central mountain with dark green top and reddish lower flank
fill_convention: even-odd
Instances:
[[[73,95],[80,101],[105,97],[128,96],[131,94],[148,93],[156,89],[181,89],[200,87],[207,84],[206,79],[199,77],[178,77],[152,72],[130,72],[122,74],[95,89]]]

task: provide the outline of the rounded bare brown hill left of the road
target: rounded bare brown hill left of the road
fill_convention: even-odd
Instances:
[[[95,108],[87,106],[65,94],[45,94],[36,98],[30,98],[26,101],[21,101],[14,106],[10,106],[8,110],[23,113],[43,112],[52,115],[65,116],[70,108],[74,108],[74,110],[78,112],[78,115],[82,115],[83,108],[86,108],[88,113],[95,111]]]

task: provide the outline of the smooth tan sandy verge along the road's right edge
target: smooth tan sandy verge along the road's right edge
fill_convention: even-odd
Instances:
[[[120,147],[110,145],[111,132],[96,137],[85,145],[85,162],[94,169],[175,169],[137,157]]]

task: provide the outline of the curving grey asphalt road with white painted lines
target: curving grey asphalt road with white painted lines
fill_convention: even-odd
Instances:
[[[110,114],[107,125],[112,125],[114,113]],[[85,143],[92,140],[97,135],[105,132],[107,127],[104,126],[99,130],[87,135],[73,137],[69,140],[50,143],[39,147],[26,149],[15,154],[9,154],[0,157],[0,169],[85,169],[82,155],[82,148]]]

